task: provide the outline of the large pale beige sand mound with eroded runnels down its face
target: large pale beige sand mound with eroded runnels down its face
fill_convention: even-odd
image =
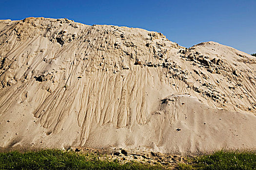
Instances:
[[[256,57],[68,19],[0,20],[0,146],[256,149]]]

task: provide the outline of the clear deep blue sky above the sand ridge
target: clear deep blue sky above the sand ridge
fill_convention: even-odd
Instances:
[[[0,19],[25,17],[138,27],[185,47],[216,41],[256,53],[256,0],[0,0]]]

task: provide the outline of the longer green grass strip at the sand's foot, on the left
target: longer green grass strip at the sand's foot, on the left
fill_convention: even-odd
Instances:
[[[97,155],[42,150],[36,152],[0,153],[0,170],[162,170],[152,166],[129,162],[99,160]]]

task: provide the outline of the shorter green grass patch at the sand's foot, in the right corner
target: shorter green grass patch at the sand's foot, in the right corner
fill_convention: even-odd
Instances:
[[[203,155],[189,159],[189,164],[179,164],[180,170],[256,170],[255,152],[226,152]]]

